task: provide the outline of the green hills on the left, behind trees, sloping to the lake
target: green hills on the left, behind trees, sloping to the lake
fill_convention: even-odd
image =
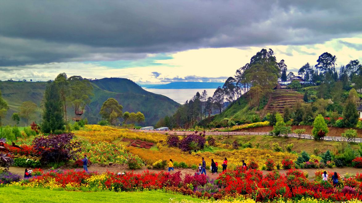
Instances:
[[[154,125],[166,115],[172,115],[180,105],[170,98],[147,92],[139,85],[124,78],[104,78],[92,80],[93,94],[91,102],[85,107],[82,118],[87,118],[89,123],[97,123],[101,116],[98,114],[104,101],[108,98],[115,98],[122,106],[123,112],[141,111],[146,120],[144,125]],[[36,112],[35,121],[41,121],[41,103],[45,92],[46,82],[15,82],[0,81],[0,90],[3,98],[8,102],[9,110],[4,119],[4,125],[14,124],[11,116],[19,111],[19,106],[24,101],[36,103],[39,109]],[[73,117],[73,109],[68,109],[68,118]],[[19,125],[25,125],[21,120]]]

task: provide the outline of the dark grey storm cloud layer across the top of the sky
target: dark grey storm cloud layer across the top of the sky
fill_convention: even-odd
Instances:
[[[0,66],[323,43],[362,30],[362,1],[0,1]]]

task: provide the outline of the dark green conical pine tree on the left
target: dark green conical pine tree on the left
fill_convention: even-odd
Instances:
[[[44,93],[44,109],[41,129],[43,133],[61,133],[64,131],[63,103],[58,85],[49,82]]]

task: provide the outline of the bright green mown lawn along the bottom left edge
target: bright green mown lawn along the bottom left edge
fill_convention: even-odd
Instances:
[[[164,191],[144,192],[75,192],[55,191],[43,188],[28,187],[0,187],[0,202],[169,202],[175,200],[193,200],[201,202],[201,199],[192,198],[180,194],[171,194]]]

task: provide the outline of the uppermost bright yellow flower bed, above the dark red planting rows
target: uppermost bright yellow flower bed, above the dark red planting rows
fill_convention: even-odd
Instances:
[[[160,140],[166,139],[166,136],[160,133],[130,131],[127,129],[117,129],[101,125],[85,125],[84,130],[76,131],[75,134],[77,136],[84,137],[91,142],[111,142],[120,137],[125,137],[133,140],[143,140],[153,143],[157,143]]]

